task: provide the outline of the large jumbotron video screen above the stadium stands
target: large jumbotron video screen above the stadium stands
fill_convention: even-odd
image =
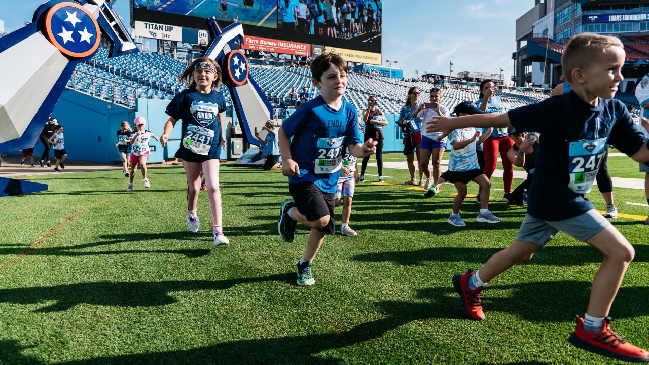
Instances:
[[[204,19],[215,16],[222,27],[241,21],[247,36],[381,52],[380,0],[131,0],[131,4],[134,21],[206,29]]]

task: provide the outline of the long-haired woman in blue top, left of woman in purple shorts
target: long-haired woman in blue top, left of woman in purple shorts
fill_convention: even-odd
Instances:
[[[417,154],[417,166],[419,166],[419,144],[421,143],[421,118],[412,118],[412,113],[419,107],[419,88],[411,86],[408,89],[406,105],[401,107],[397,125],[400,125],[404,134],[404,155],[406,155],[406,164],[410,172],[410,181],[405,185],[415,185],[415,153]],[[419,185],[421,185],[423,173],[419,168]]]

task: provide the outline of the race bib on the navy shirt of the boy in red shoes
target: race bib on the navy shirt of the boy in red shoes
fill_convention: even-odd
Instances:
[[[604,153],[606,153],[606,138],[570,142],[568,164],[570,190],[577,194],[587,194],[591,191]]]

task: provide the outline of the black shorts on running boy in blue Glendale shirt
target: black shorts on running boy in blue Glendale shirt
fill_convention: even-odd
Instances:
[[[307,220],[315,221],[329,216],[329,223],[318,229],[318,231],[326,234],[336,233],[334,193],[324,193],[316,184],[310,181],[288,184],[288,191],[293,197],[295,207],[300,213],[304,214]]]

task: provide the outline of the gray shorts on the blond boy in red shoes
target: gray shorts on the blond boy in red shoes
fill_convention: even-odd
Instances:
[[[562,231],[584,242],[602,231],[609,224],[611,223],[594,209],[585,212],[581,216],[560,221],[539,220],[528,214],[520,225],[516,240],[532,242],[543,247],[554,238],[557,232]]]

